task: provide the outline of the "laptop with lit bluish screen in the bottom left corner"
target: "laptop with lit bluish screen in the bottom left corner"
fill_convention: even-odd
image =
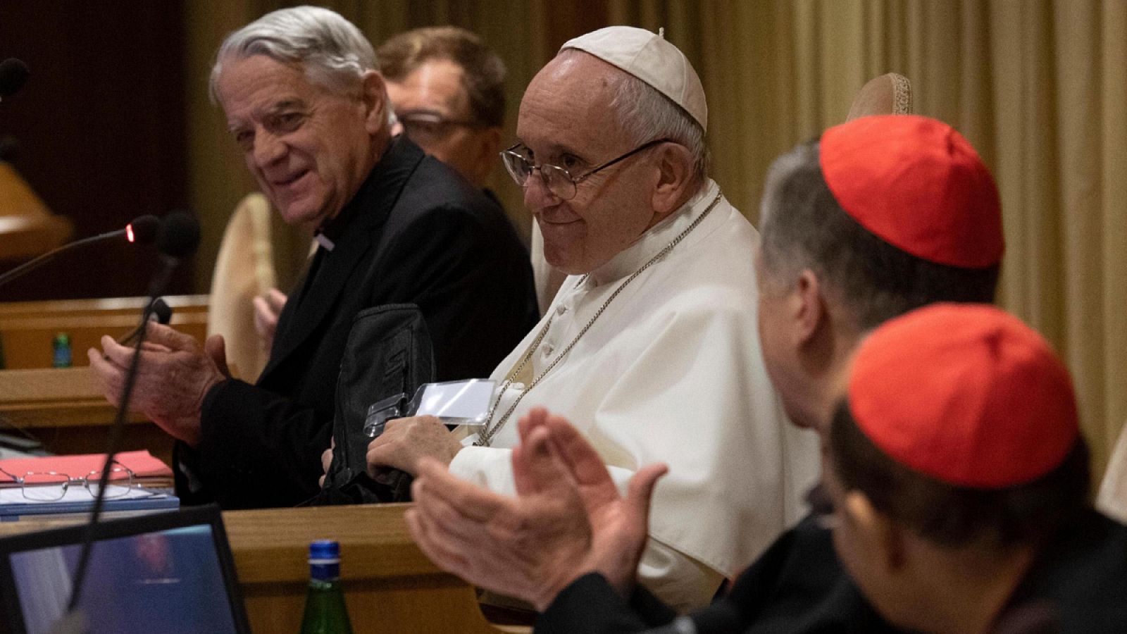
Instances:
[[[0,539],[0,632],[55,634],[86,526]],[[79,609],[89,634],[249,634],[216,507],[100,522]]]

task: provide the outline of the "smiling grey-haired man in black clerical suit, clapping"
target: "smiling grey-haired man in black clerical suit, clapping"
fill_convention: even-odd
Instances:
[[[283,219],[320,243],[286,302],[256,385],[231,379],[222,338],[167,327],[142,352],[132,406],[183,443],[181,494],[223,508],[292,505],[317,492],[353,318],[418,306],[440,380],[488,376],[535,323],[527,255],[470,184],[392,139],[371,44],[327,9],[264,16],[227,37],[212,70],[247,167]],[[90,362],[112,402],[132,349]]]

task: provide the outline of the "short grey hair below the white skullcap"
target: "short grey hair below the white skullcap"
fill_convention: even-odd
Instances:
[[[669,139],[684,146],[693,160],[693,183],[708,178],[709,153],[704,130],[684,108],[653,86],[628,73],[621,76],[611,109],[627,135],[640,146],[654,139]]]

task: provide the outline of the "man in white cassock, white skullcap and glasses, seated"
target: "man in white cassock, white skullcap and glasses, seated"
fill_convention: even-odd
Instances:
[[[367,455],[411,473],[429,456],[513,492],[516,421],[547,406],[616,482],[664,461],[639,576],[680,609],[708,604],[797,521],[817,474],[816,439],[786,423],[762,363],[756,232],[707,176],[707,117],[695,71],[660,35],[566,43],[529,86],[503,159],[548,262],[570,276],[494,370],[486,425],[393,420]]]

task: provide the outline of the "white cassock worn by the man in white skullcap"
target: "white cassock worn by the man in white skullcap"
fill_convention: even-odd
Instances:
[[[533,352],[533,376],[561,353],[607,297],[682,234],[717,197],[709,182],[671,218],[595,270],[570,276],[548,314],[494,370],[504,379],[551,317]],[[756,327],[753,255],[758,236],[726,200],[673,250],[636,278],[529,394],[491,439],[465,439],[450,470],[515,494],[517,419],[535,406],[566,416],[625,483],[665,463],[639,579],[678,609],[707,605],[806,511],[818,474],[817,438],[787,422],[771,387]],[[524,389],[513,384],[496,408]]]

